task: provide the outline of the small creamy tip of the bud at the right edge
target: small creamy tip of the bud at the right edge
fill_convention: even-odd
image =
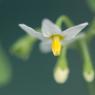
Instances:
[[[93,70],[91,70],[90,72],[84,71],[83,76],[87,82],[92,82],[94,80],[94,77],[95,77],[94,71]]]

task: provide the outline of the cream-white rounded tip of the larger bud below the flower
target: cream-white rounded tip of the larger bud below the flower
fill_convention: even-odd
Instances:
[[[57,83],[63,84],[67,81],[69,77],[69,69],[62,69],[61,67],[57,67],[54,70],[54,79]]]

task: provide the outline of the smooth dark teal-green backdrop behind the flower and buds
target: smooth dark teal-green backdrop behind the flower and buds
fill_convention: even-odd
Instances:
[[[10,46],[25,35],[18,27],[19,23],[36,28],[41,25],[43,18],[55,21],[60,15],[68,15],[75,24],[90,22],[94,16],[86,0],[0,0],[0,41],[12,69],[12,79],[0,87],[0,95],[89,95],[78,52],[69,51],[71,72],[63,85],[53,79],[57,59],[51,53],[42,54],[38,49],[39,41],[34,45],[28,61],[22,61],[9,52]],[[94,41],[91,43],[91,54],[95,63]]]

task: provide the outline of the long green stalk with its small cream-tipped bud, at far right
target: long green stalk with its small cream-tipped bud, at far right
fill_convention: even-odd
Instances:
[[[95,73],[94,73],[94,68],[92,66],[92,61],[90,58],[90,54],[88,52],[88,48],[86,45],[86,42],[84,40],[80,41],[80,46],[81,46],[81,50],[82,50],[82,55],[83,55],[83,76],[84,79],[87,82],[93,82],[94,81],[94,77],[95,77]]]

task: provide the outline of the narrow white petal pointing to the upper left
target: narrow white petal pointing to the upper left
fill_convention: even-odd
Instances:
[[[25,24],[19,24],[19,27],[23,29],[25,32],[27,32],[32,37],[38,38],[40,40],[43,39],[43,35],[40,32],[36,32],[33,28],[25,25]]]

